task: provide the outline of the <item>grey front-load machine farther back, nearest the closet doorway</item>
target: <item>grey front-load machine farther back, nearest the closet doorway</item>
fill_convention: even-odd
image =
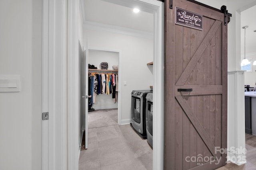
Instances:
[[[142,137],[147,138],[146,133],[146,95],[153,90],[132,90],[131,118],[132,128]]]

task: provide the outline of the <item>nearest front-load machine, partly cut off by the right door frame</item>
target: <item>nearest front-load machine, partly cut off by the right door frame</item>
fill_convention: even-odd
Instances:
[[[153,94],[146,96],[146,133],[147,142],[153,148]]]

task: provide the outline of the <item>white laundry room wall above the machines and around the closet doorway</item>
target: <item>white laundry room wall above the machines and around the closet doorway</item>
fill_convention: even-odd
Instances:
[[[105,31],[85,30],[90,47],[120,50],[121,74],[121,119],[130,119],[132,90],[149,90],[153,85],[152,66],[146,64],[153,61],[153,40],[135,36],[115,34]],[[85,36],[86,37],[86,36]],[[85,39],[84,39],[85,42]],[[120,70],[119,70],[120,71]],[[127,86],[124,86],[124,81]]]

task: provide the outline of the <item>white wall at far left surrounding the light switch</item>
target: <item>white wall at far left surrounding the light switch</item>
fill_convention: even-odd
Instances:
[[[21,92],[0,93],[0,169],[42,167],[42,0],[0,1],[0,74]]]

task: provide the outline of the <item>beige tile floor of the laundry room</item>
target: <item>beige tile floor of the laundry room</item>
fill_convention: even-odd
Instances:
[[[152,170],[152,164],[152,149],[130,125],[110,125],[88,129],[79,170]]]

